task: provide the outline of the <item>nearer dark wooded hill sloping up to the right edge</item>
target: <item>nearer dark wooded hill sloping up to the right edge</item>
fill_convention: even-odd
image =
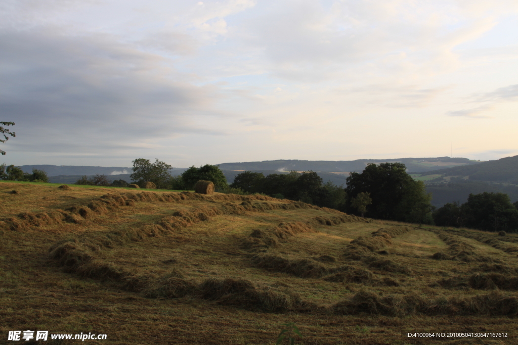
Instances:
[[[421,176],[431,174],[442,174],[443,177],[461,176],[476,181],[500,182],[518,185],[518,156],[481,162],[480,164],[465,167],[430,170],[421,173]]]

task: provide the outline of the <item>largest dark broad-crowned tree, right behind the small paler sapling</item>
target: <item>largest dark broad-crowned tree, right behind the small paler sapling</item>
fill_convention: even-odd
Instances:
[[[366,212],[367,217],[416,221],[416,215],[421,211],[425,213],[421,214],[421,220],[431,221],[431,196],[426,193],[422,181],[414,181],[407,174],[405,164],[370,163],[361,174],[353,172],[346,181],[346,210],[349,212],[354,211],[351,203],[358,194],[368,192],[372,204]]]

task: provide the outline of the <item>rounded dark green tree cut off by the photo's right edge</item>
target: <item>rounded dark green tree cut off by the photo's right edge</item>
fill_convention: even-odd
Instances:
[[[469,194],[462,205],[466,214],[466,226],[485,231],[516,231],[518,209],[504,193],[483,192]]]

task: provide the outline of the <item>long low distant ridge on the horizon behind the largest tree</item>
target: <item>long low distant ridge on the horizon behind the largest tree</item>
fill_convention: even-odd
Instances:
[[[251,170],[251,171],[308,171],[315,172],[362,172],[368,163],[400,162],[404,163],[409,172],[425,172],[444,167],[467,166],[478,164],[467,158],[396,158],[396,159],[356,159],[356,160],[297,160],[279,159],[257,162],[236,162],[217,164],[221,170]]]

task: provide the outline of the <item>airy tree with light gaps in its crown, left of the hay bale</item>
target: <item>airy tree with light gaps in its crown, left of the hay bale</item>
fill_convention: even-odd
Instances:
[[[133,161],[133,174],[130,175],[137,184],[153,182],[158,189],[166,189],[169,185],[171,166],[158,158],[151,163],[149,159],[138,158]]]

